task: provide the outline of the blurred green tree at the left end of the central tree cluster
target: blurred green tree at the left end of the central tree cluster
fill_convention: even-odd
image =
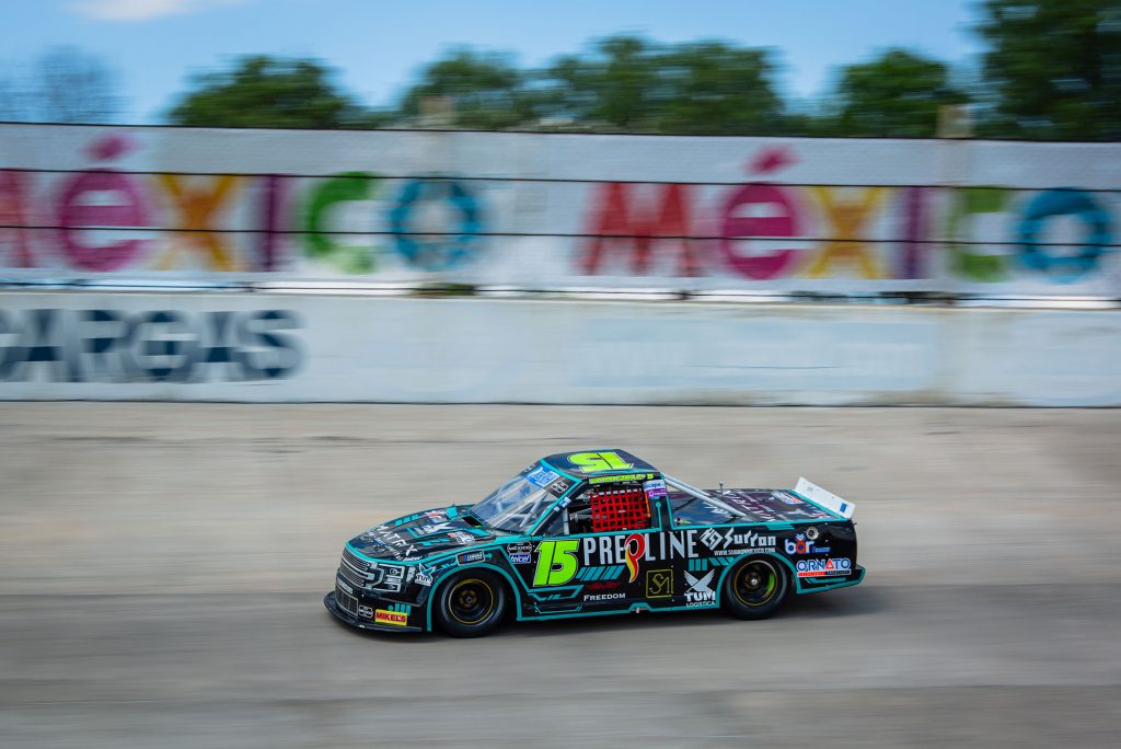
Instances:
[[[399,114],[420,119],[441,100],[450,109],[448,126],[500,130],[532,123],[535,114],[524,91],[525,75],[507,55],[455,49],[425,67],[420,82],[401,100]]]

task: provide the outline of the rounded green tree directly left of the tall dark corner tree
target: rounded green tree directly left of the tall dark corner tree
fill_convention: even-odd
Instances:
[[[951,85],[946,65],[906,49],[843,67],[832,99],[824,131],[882,138],[934,137],[938,108],[969,100]]]

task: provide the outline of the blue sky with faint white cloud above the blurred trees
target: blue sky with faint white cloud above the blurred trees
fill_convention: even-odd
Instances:
[[[6,0],[0,65],[52,46],[95,53],[118,73],[126,120],[160,122],[192,72],[250,53],[336,67],[368,104],[390,103],[419,68],[457,45],[511,52],[524,66],[621,31],[660,41],[726,39],[776,49],[794,98],[888,46],[955,65],[980,44],[978,0]],[[0,68],[2,70],[2,68]]]

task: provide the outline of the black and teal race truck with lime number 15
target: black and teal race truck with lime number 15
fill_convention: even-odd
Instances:
[[[478,637],[518,620],[723,608],[858,584],[853,505],[795,489],[696,489],[622,450],[544,457],[474,505],[349,540],[324,604],[362,629]]]

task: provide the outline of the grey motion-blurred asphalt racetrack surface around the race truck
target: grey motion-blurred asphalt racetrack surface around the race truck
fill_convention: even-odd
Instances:
[[[0,746],[1113,747],[1121,412],[0,405]],[[858,505],[864,584],[360,634],[343,542],[620,446]]]

